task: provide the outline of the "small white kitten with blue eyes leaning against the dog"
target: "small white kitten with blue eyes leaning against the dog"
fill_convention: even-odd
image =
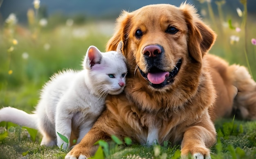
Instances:
[[[5,107],[0,109],[0,122],[38,129],[43,135],[41,145],[60,147],[63,140],[56,132],[70,139],[71,131],[79,143],[103,111],[107,94],[120,94],[124,90],[127,68],[121,47],[122,42],[118,52],[101,53],[90,46],[83,70],[60,72],[45,84],[34,114]]]

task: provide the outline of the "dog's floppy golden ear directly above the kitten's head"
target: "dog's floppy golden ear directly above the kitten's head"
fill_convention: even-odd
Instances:
[[[121,15],[117,18],[115,33],[108,41],[106,51],[114,51],[120,41],[123,41],[121,51],[124,53],[124,47],[126,45],[126,39],[128,38],[128,33],[131,27],[130,23],[131,13],[123,11]]]

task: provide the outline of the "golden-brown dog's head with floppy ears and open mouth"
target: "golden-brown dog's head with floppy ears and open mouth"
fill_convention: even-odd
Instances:
[[[202,57],[215,39],[193,6],[153,4],[131,13],[124,11],[107,50],[116,50],[123,41],[131,78],[145,89],[166,91],[174,90],[174,85],[196,87]]]

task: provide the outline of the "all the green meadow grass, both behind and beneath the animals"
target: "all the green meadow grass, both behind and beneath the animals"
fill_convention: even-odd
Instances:
[[[220,20],[228,22],[230,19],[231,26],[240,27],[241,32],[236,32],[232,27],[212,24],[211,18],[203,18],[213,30],[218,30],[217,41],[210,52],[231,64],[238,63],[247,67],[249,64],[255,79],[256,46],[250,42],[252,38],[256,38],[256,22],[253,17],[248,16],[246,28],[242,24],[244,18],[235,15],[215,17],[214,22],[218,24],[221,23]],[[53,73],[64,68],[81,69],[81,61],[87,48],[94,45],[104,51],[110,38],[110,35],[102,34],[97,25],[91,23],[79,26],[49,26],[43,28],[30,24],[29,27],[21,27],[15,24],[0,28],[0,107],[11,106],[26,112],[33,111],[39,99],[39,90]],[[86,35],[77,37],[76,33]],[[231,44],[231,35],[239,36],[240,40]],[[16,39],[18,44],[13,44],[13,39]],[[50,47],[47,48],[47,45]],[[28,54],[27,59],[22,58],[25,52]],[[215,124],[219,137],[218,143],[211,148],[213,159],[256,158],[255,121],[233,122],[232,119],[221,119]],[[67,150],[61,150],[57,146],[40,146],[41,135],[37,133],[33,138],[36,132],[29,133],[28,129],[18,125],[0,123],[0,159],[65,157]],[[136,144],[117,146],[114,142],[110,144],[110,150],[103,149],[99,151],[99,155],[109,151],[111,155],[107,158],[111,159],[179,158],[179,149],[180,146],[170,147],[170,143],[161,147],[146,147]]]

